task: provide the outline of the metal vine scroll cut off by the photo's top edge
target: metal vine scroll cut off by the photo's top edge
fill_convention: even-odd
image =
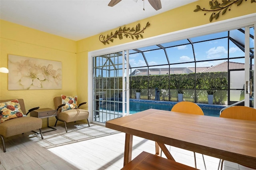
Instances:
[[[215,20],[217,20],[219,18],[220,14],[224,15],[227,12],[227,10],[230,11],[231,6],[233,4],[237,4],[237,6],[239,6],[242,4],[243,1],[247,1],[247,0],[222,0],[221,4],[217,0],[212,0],[209,2],[210,10],[208,10],[206,8],[202,9],[199,5],[197,5],[194,12],[206,11],[206,13],[204,13],[204,15],[206,15],[208,12],[212,12],[212,15],[210,16],[210,22],[212,22],[212,20],[214,18],[215,18]],[[251,3],[256,2],[256,0],[250,0],[250,1],[251,1]]]

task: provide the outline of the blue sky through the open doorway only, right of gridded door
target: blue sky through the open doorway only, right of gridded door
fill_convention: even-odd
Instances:
[[[250,29],[250,34],[254,35],[254,30]],[[203,61],[198,62],[197,67],[209,67],[212,65],[216,65],[218,63],[222,63],[221,61],[205,61],[205,60],[212,60],[212,59],[224,59],[228,57],[243,57],[244,52],[236,46],[232,41],[229,41],[229,48],[228,48],[228,38],[221,38],[227,37],[228,32],[221,32],[217,34],[211,34],[207,36],[200,36],[196,38],[191,38],[190,40],[194,44],[194,53],[196,57],[196,61]],[[244,43],[244,34],[239,32],[238,30],[230,31],[230,36],[239,42]],[[221,39],[217,39],[221,38]],[[205,41],[209,39],[215,39],[210,41]],[[204,42],[201,42],[204,41]],[[185,44],[185,45],[184,45]],[[194,61],[194,54],[192,45],[189,44],[188,40],[180,40],[176,42],[170,42],[161,44],[166,48],[166,52],[168,55],[168,59],[170,63],[182,63],[182,62],[190,62]],[[170,47],[178,45],[175,47]],[[253,47],[254,40],[250,39],[250,47]],[[167,64],[168,61],[166,59],[166,55],[163,49],[152,50],[159,48],[156,45],[150,47],[142,47],[138,48],[140,51],[144,51],[144,55],[148,61],[148,64],[151,66],[154,65],[162,65]],[[148,51],[152,50],[152,51]],[[130,50],[130,53],[136,52],[134,50]],[[226,61],[226,60],[225,60]],[[235,62],[244,63],[244,59],[236,59]],[[146,62],[141,53],[134,53],[129,55],[129,63],[132,67],[141,67],[146,66]],[[160,67],[160,66],[157,66]],[[161,67],[168,67],[168,66],[161,66]],[[194,63],[186,63],[186,64],[179,64],[174,65],[173,67],[194,67]]]

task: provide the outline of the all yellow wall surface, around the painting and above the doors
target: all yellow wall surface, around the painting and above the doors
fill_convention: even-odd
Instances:
[[[193,12],[196,5],[202,8],[209,6],[209,0],[200,0],[186,6],[140,20],[126,27],[135,27],[140,23],[144,27],[147,22],[150,26],[143,33],[144,38],[158,36],[177,30],[210,23],[210,13]],[[220,15],[217,21],[235,18],[256,12],[256,3],[243,2],[240,6],[233,5],[231,11],[224,16]],[[213,20],[212,22],[217,22]],[[115,32],[118,28],[102,33],[103,35]],[[114,45],[128,43],[136,40],[124,38],[114,39],[114,43],[104,45],[99,36],[91,36],[78,42],[61,38],[52,34],[34,30],[28,27],[0,20],[0,67],[8,67],[8,54],[49,59],[62,62],[62,89],[58,90],[8,90],[8,74],[0,73],[0,99],[23,98],[26,109],[40,106],[41,108],[54,108],[53,97],[64,95],[78,95],[79,101],[87,101],[88,89],[88,51],[94,51]],[[78,102],[79,102],[78,101]],[[86,109],[88,106],[84,106]],[[54,122],[51,119],[50,125]],[[46,120],[44,120],[46,126]]]

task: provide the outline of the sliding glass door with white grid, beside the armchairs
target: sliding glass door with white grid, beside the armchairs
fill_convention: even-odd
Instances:
[[[93,121],[123,117],[127,110],[126,51],[93,57]],[[129,71],[129,69],[128,69]],[[128,86],[129,87],[129,86]]]

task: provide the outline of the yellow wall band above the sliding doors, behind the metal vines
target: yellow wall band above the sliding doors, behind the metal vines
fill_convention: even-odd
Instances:
[[[190,3],[186,6],[175,8],[162,14],[158,14],[144,20],[139,20],[125,26],[126,28],[135,28],[135,26],[140,23],[141,28],[143,28],[146,23],[149,22],[150,26],[144,31],[143,38],[150,38],[153,36],[175,32],[178,30],[184,30],[186,28],[209,24],[209,18],[211,13],[204,15],[204,12],[202,11],[194,12],[194,10],[196,9],[196,5],[200,5],[201,8],[208,8],[209,0],[200,0],[194,3]],[[240,6],[236,6],[236,4],[234,4],[230,11],[226,12],[226,14],[224,14],[223,16],[220,15],[218,20],[214,19],[212,23],[253,13],[256,13],[256,3],[246,1],[243,2]],[[99,41],[100,35],[107,36],[110,34],[110,32],[114,33],[116,30],[118,30],[118,28],[78,41],[77,53],[80,53],[81,51],[94,51],[97,49],[136,41],[132,40],[131,38],[123,38],[122,40],[115,38],[113,43],[110,42],[110,44],[107,45],[104,45],[102,42]]]

